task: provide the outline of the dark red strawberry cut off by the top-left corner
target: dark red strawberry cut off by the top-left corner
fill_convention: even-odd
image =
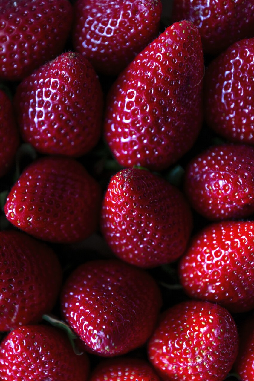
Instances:
[[[0,0],[0,79],[21,80],[64,48],[68,0]]]

